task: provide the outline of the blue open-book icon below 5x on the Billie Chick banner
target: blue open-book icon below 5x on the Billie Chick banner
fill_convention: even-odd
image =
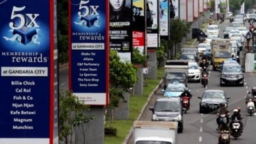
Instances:
[[[40,42],[37,41],[38,39],[38,31],[39,29],[32,29],[29,31],[22,31],[20,29],[15,29],[15,30],[10,30],[13,32],[13,37],[3,37],[6,39],[6,41],[11,41],[11,42],[20,42],[24,45],[29,44],[33,42],[33,44],[40,44]]]

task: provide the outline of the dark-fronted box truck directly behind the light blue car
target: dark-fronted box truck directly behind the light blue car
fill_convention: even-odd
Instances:
[[[164,89],[169,83],[175,81],[184,83],[188,87],[189,61],[187,60],[166,60],[163,77]]]

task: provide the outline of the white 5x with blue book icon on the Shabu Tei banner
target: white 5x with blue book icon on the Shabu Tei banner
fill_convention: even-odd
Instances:
[[[99,27],[99,13],[97,12],[99,6],[86,6],[89,2],[90,0],[80,1],[79,12],[77,12],[79,22],[74,21],[74,24],[87,26],[88,28],[91,26]]]

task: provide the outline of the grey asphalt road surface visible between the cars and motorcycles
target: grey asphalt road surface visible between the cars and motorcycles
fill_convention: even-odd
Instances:
[[[226,26],[229,26],[230,23],[227,21],[223,24],[218,24],[221,28],[220,37],[223,38],[223,30]],[[248,28],[248,22],[246,22],[246,27]],[[184,114],[184,131],[181,134],[178,134],[178,143],[179,144],[216,144],[218,143],[218,132],[216,131],[216,113],[211,114],[200,114],[199,113],[199,99],[198,96],[201,96],[205,89],[223,89],[227,96],[230,97],[228,109],[232,111],[235,107],[241,107],[241,115],[243,116],[243,134],[237,140],[232,138],[232,144],[255,144],[256,140],[256,114],[255,116],[249,116],[246,113],[246,104],[245,96],[248,90],[251,87],[256,86],[256,73],[244,73],[244,86],[227,86],[220,87],[219,85],[219,73],[218,71],[213,71],[212,67],[209,66],[209,85],[207,88],[202,87],[200,83],[189,83],[189,89],[193,94],[191,99],[191,109]],[[154,101],[157,97],[161,96],[161,89],[157,91],[152,97],[148,107],[154,106]],[[152,111],[147,110],[143,113],[141,120],[151,120]],[[232,114],[232,112],[231,112]]]

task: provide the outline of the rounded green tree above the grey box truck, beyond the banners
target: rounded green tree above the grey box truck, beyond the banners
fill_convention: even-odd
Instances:
[[[190,27],[191,24],[183,20],[174,19],[170,21],[170,43],[175,46],[175,48],[173,48],[173,57],[176,57],[177,44],[182,42],[182,38],[186,37],[186,34],[190,32]]]

